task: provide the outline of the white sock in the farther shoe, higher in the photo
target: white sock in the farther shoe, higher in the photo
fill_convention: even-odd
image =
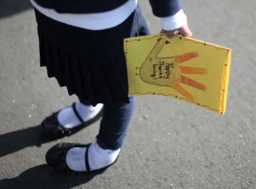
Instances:
[[[102,108],[102,103],[97,104],[95,107],[92,105],[84,105],[81,102],[76,103],[76,110],[78,114],[86,122],[92,117],[96,116]],[[73,128],[77,125],[81,125],[81,121],[77,118],[72,107],[67,107],[63,110],[60,110],[58,113],[58,121],[65,128]]]

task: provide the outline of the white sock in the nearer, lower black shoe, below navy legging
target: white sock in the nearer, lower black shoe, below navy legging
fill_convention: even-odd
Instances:
[[[72,147],[68,150],[66,163],[74,171],[86,171],[86,147]],[[97,142],[93,142],[88,151],[89,165],[92,170],[101,169],[114,163],[120,148],[117,150],[102,149]]]

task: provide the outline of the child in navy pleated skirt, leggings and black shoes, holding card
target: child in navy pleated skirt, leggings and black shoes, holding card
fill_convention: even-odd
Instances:
[[[92,144],[60,143],[46,154],[52,167],[93,171],[113,164],[124,142],[134,109],[128,96],[124,38],[148,35],[137,0],[45,1],[35,7],[40,42],[40,66],[49,77],[67,86],[80,100],[47,117],[42,131],[48,137],[70,135],[99,119],[100,130]],[[179,0],[150,0],[169,38],[178,31],[191,36]],[[102,104],[104,104],[104,106]]]

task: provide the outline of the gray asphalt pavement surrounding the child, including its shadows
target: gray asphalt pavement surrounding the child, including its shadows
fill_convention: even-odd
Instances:
[[[164,96],[138,96],[118,161],[93,174],[61,173],[45,162],[58,142],[93,142],[99,121],[47,140],[45,116],[77,101],[39,67],[28,0],[0,1],[0,188],[256,188],[256,3],[182,0],[193,38],[232,49],[225,116]],[[152,34],[160,31],[140,1]]]

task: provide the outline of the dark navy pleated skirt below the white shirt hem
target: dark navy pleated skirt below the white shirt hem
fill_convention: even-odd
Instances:
[[[119,26],[91,31],[63,24],[35,9],[40,66],[81,102],[129,103],[124,38],[148,35],[139,6]]]

